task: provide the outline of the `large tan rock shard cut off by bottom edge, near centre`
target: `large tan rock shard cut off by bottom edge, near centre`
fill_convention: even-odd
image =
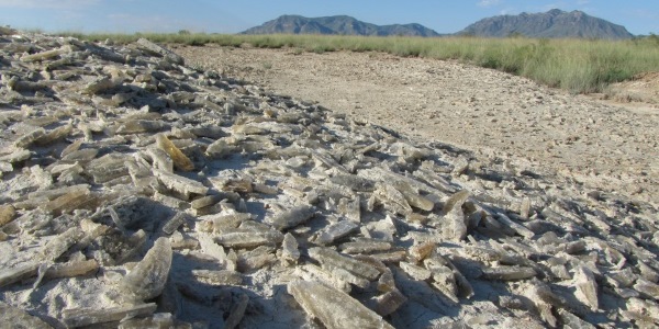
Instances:
[[[361,305],[350,295],[317,282],[294,281],[288,293],[313,318],[330,329],[391,328],[380,315]]]

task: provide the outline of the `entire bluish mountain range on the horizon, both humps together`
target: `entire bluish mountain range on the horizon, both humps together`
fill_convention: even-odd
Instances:
[[[439,34],[421,24],[376,25],[351,16],[304,18],[282,15],[252,27],[242,34],[336,34],[336,35],[404,35],[447,36],[473,35],[482,37],[583,37],[622,39],[634,37],[624,26],[585,14],[552,9],[545,13],[499,15],[480,20],[455,34]]]

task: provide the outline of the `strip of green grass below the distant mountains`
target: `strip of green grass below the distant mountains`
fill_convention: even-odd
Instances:
[[[398,56],[456,59],[462,63],[527,77],[574,93],[602,92],[613,82],[656,71],[659,37],[632,41],[534,39],[525,37],[373,37],[327,35],[234,35],[234,34],[76,34],[88,41],[111,38],[131,43],[146,37],[156,43],[260,48],[292,48],[293,52],[383,52]]]

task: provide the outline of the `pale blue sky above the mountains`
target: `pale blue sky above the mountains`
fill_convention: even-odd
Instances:
[[[581,10],[633,34],[659,34],[659,0],[0,0],[0,25],[47,32],[236,33],[282,14],[347,14],[375,24],[420,23],[454,33],[488,16]]]

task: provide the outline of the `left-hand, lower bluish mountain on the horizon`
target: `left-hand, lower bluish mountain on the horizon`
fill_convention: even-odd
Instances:
[[[344,34],[344,35],[404,35],[404,36],[439,36],[439,34],[421,24],[376,25],[361,22],[355,18],[338,15],[326,18],[304,18],[300,15],[282,15],[276,20],[252,27],[242,34]]]

